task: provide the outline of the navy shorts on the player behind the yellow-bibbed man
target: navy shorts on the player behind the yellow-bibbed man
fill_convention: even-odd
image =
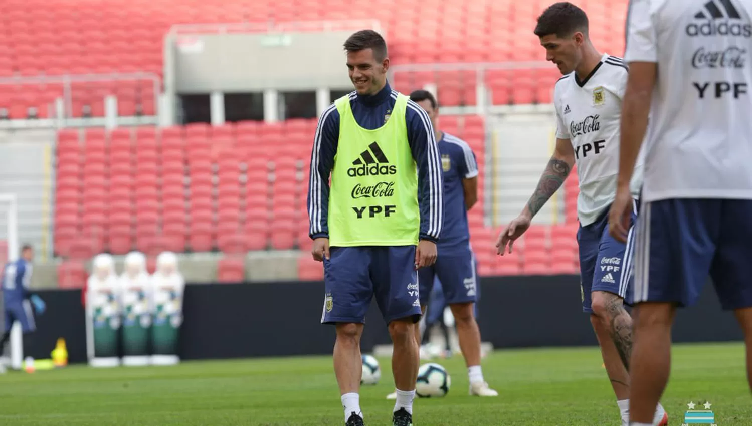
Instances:
[[[431,296],[434,279],[441,281],[444,301],[447,304],[465,304],[477,300],[478,274],[475,270],[475,255],[470,247],[442,255],[438,252],[436,262],[418,270],[420,304],[426,306]]]

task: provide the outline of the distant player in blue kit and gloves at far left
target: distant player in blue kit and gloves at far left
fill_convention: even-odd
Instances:
[[[0,354],[4,352],[5,343],[11,338],[11,327],[14,322],[20,322],[23,334],[36,331],[32,304],[38,314],[44,313],[44,301],[29,292],[29,282],[32,279],[32,260],[34,249],[25,245],[21,249],[21,257],[17,261],[5,264],[2,274],[3,305],[5,308],[5,331],[0,339]]]

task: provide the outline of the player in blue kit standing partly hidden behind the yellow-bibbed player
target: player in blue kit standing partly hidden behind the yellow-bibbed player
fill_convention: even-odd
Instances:
[[[437,245],[435,264],[418,270],[420,306],[425,312],[434,277],[438,276],[444,299],[455,319],[459,348],[468,367],[469,393],[496,397],[499,394],[490,389],[483,378],[481,331],[473,310],[477,301],[478,273],[470,246],[467,212],[478,201],[478,163],[464,140],[439,130],[438,103],[431,92],[416,90],[410,94],[410,99],[423,107],[431,119],[444,175],[444,228]],[[420,329],[415,331],[420,343]],[[390,394],[387,398],[393,396]]]

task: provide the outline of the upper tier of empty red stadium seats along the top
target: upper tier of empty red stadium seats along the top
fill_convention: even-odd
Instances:
[[[144,72],[162,75],[163,39],[174,24],[377,19],[393,64],[542,61],[532,29],[550,2],[429,0],[352,8],[343,0],[271,2],[229,0],[6,0],[0,17],[0,78]],[[626,0],[583,0],[597,47],[620,55]],[[474,105],[478,71],[415,71],[395,75],[395,88],[436,83],[442,104]],[[482,77],[493,104],[550,101],[555,68],[490,69]],[[0,118],[44,118],[63,95],[61,80],[0,84]],[[153,115],[154,83],[147,78],[71,83],[72,117],[103,116],[105,95],[116,95],[120,116]],[[159,88],[157,89],[159,90]],[[4,112],[5,111],[5,112]]]

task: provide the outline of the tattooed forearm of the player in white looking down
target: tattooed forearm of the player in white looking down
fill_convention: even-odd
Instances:
[[[575,165],[575,150],[569,139],[556,138],[556,150],[553,151],[546,170],[535,187],[535,192],[527,202],[523,216],[532,219],[541,207],[546,204],[549,198],[559,190],[564,180],[569,176],[572,167]]]

